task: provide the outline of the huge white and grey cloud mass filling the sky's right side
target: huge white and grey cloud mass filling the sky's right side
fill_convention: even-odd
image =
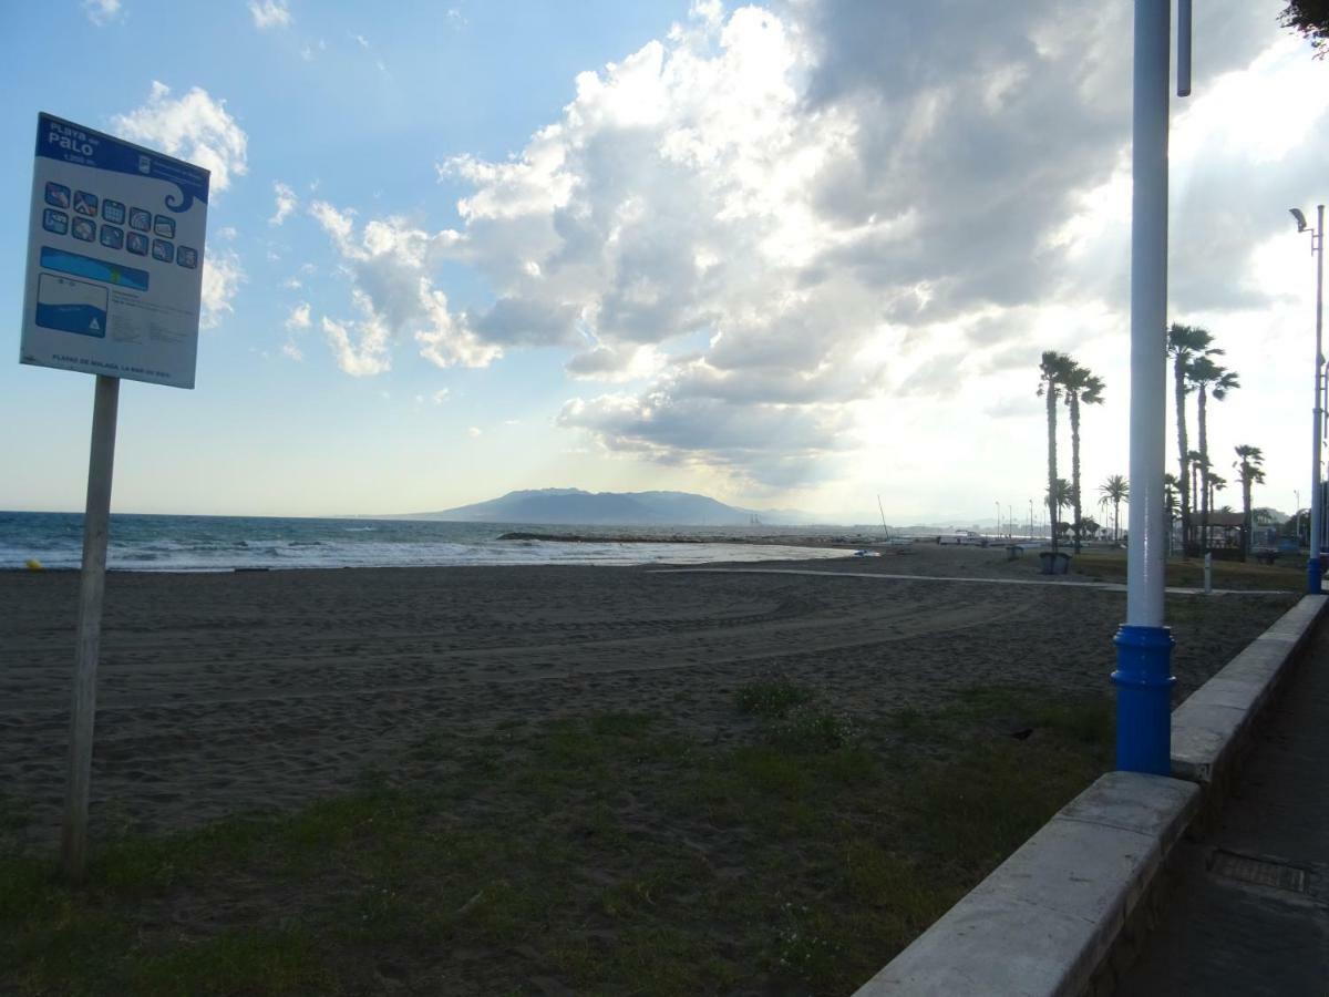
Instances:
[[[1309,190],[1325,154],[1308,138],[1322,66],[1275,17],[1197,12],[1174,231],[1203,251],[1177,254],[1181,312],[1273,302],[1252,265],[1284,225],[1269,202]],[[469,186],[459,231],[315,205],[367,323],[340,323],[335,346],[381,360],[405,334],[472,366],[554,347],[589,383],[560,425],[780,488],[861,439],[948,445],[938,415],[961,396],[1013,423],[1027,395],[1037,419],[1043,348],[1107,370],[1115,401],[1130,35],[1127,4],[696,3],[667,39],[579,74],[516,154],[441,161]],[[488,307],[449,307],[445,259],[485,279]],[[986,432],[965,439],[1005,445]]]

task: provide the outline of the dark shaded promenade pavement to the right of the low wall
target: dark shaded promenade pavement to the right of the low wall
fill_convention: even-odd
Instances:
[[[1329,621],[1120,994],[1329,994]]]

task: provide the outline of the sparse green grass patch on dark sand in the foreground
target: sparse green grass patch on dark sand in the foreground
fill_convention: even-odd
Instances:
[[[848,993],[1111,743],[1102,703],[1022,690],[872,731],[792,683],[736,699],[736,744],[634,713],[440,731],[294,814],[100,843],[81,889],[0,856],[0,990]]]

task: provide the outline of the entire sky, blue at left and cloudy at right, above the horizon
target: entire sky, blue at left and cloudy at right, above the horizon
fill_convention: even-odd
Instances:
[[[1281,5],[1197,4],[1170,318],[1241,378],[1220,473],[1261,447],[1256,502],[1290,509],[1314,270],[1286,209],[1329,195],[1329,62]],[[1131,4],[1076,7],[9,4],[0,508],[78,509],[86,475],[92,379],[17,363],[39,110],[213,170],[198,387],[125,384],[117,510],[581,487],[1027,518],[1043,350],[1107,383],[1096,496],[1127,471]]]

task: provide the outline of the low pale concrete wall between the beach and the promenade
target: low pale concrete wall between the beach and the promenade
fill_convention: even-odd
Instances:
[[[1204,798],[1221,795],[1231,780],[1255,720],[1326,598],[1302,597],[1174,711],[1174,778],[1108,772],[1098,779],[856,997],[1098,990],[1127,921],[1201,814]]]

